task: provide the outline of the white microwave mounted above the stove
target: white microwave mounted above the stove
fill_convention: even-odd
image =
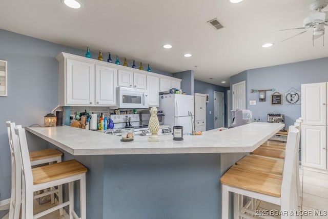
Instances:
[[[117,107],[142,109],[149,107],[147,90],[117,87]]]

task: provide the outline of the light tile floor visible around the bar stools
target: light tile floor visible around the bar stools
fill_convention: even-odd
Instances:
[[[302,170],[300,168],[300,181],[302,184],[302,207],[303,214],[306,212],[315,212],[320,210],[322,214],[328,213],[328,174],[312,172],[308,170]],[[49,208],[51,204],[35,206],[35,213],[42,211],[45,208]],[[263,201],[257,202],[257,210],[280,210],[280,206],[270,204]],[[65,219],[59,216],[59,210],[51,214],[48,214],[42,219]],[[301,219],[324,219],[328,218],[328,215],[314,216],[314,215],[302,215]],[[8,219],[8,214],[2,219]]]

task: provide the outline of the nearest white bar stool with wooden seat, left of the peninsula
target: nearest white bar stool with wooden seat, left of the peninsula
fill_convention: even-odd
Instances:
[[[15,144],[15,150],[20,151],[22,160],[22,218],[35,219],[42,217],[50,212],[69,206],[70,218],[86,219],[86,172],[88,169],[75,160],[64,161],[56,164],[45,165],[31,168],[30,156],[26,140],[25,129],[16,127],[15,134],[18,135],[18,144]],[[13,137],[14,139],[14,137]],[[16,154],[17,155],[17,154]],[[17,156],[16,156],[17,158]],[[80,217],[74,211],[74,182],[80,184]],[[43,190],[49,187],[55,187],[68,183],[69,201],[47,209],[43,212],[33,215],[33,192]]]

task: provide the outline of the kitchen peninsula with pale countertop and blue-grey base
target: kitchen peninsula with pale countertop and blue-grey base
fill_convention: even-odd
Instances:
[[[72,127],[27,127],[88,167],[87,218],[220,218],[220,176],[283,124],[251,123],[148,142]]]

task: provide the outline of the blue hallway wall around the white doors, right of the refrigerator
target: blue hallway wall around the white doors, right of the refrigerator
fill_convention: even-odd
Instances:
[[[214,129],[214,91],[224,93],[224,118],[227,118],[227,89],[206,82],[194,80],[194,92],[210,94],[210,102],[206,104],[206,130]],[[210,114],[210,111],[212,112]]]

